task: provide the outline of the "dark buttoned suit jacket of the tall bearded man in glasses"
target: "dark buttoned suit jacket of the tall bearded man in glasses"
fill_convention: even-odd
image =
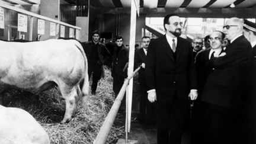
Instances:
[[[178,97],[188,101],[190,89],[197,89],[196,70],[191,43],[177,38],[177,56],[166,36],[151,41],[146,56],[146,84],[148,90],[156,89],[157,103]]]

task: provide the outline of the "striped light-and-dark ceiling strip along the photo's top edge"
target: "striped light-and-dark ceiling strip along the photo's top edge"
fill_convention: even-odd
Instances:
[[[24,0],[23,0],[24,1]],[[126,8],[131,0],[90,0],[94,7]],[[76,0],[60,0],[62,4],[76,4]],[[256,6],[255,0],[140,0],[140,8],[251,8]]]

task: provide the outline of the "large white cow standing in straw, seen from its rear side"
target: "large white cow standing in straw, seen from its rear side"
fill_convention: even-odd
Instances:
[[[71,120],[76,99],[89,93],[87,57],[76,40],[0,41],[0,92],[18,88],[38,94],[56,85],[66,102],[62,123]]]

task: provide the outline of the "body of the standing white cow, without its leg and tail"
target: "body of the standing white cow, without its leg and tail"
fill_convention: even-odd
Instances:
[[[84,77],[84,56],[75,40],[46,40],[28,43],[0,41],[2,84],[39,88],[47,81],[77,84]]]

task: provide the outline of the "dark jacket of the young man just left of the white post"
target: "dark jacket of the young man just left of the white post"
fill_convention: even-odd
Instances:
[[[121,46],[118,52],[118,47],[114,47],[114,53],[112,57],[112,71],[111,75],[114,77],[116,75],[121,75],[124,78],[127,77],[127,63],[129,61],[129,50]]]

